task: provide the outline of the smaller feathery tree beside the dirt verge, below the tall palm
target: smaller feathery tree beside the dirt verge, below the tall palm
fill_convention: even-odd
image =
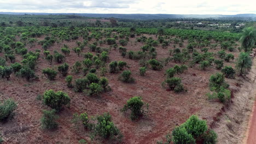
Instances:
[[[240,75],[246,73],[247,70],[252,67],[252,58],[249,56],[247,52],[241,52],[237,62],[236,62],[236,70]]]

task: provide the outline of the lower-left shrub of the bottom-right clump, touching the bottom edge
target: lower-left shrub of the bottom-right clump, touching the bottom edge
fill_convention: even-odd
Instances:
[[[184,127],[176,127],[172,131],[172,142],[174,144],[195,144],[195,139],[188,134]]]

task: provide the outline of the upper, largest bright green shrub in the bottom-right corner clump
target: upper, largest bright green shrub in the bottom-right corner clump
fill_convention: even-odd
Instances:
[[[187,130],[188,134],[193,135],[195,138],[201,136],[207,130],[206,121],[200,120],[195,115],[190,116],[182,126]]]

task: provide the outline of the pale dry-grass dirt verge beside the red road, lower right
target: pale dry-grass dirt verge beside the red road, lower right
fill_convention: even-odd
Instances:
[[[218,143],[255,143],[255,115],[252,115],[256,96],[256,59],[253,67],[245,77],[238,77],[239,88],[232,88],[234,98],[232,104],[226,105],[220,113],[219,121],[214,122],[213,129],[218,133]],[[253,112],[255,114],[255,111]],[[249,127],[248,127],[248,123]],[[248,129],[248,130],[247,130]],[[248,140],[247,140],[248,139]]]

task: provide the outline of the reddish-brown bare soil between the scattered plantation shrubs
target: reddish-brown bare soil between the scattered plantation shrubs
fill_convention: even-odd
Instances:
[[[148,35],[147,35],[148,36]],[[154,35],[152,35],[153,38]],[[82,38],[78,39],[82,41]],[[130,38],[127,46],[129,50],[139,50],[139,47],[144,44],[135,43],[135,38]],[[90,43],[92,43],[91,41]],[[82,61],[83,56],[78,57],[72,48],[76,46],[75,41],[67,43],[63,41],[61,44],[55,44],[49,50],[60,51],[63,44],[67,44],[71,49],[71,54],[66,57],[66,62],[71,67],[75,61]],[[184,46],[187,46],[185,41]],[[109,47],[103,45],[101,47]],[[36,45],[28,50],[42,50],[42,47]],[[162,49],[161,46],[156,47],[158,53],[157,59],[168,57],[168,50],[173,49],[173,44],[167,49]],[[217,50],[220,50],[218,47]],[[210,50],[210,51],[217,51]],[[89,48],[83,52],[88,52]],[[198,50],[200,51],[200,50]],[[238,51],[232,52],[237,58]],[[94,53],[95,54],[95,53]],[[0,53],[0,56],[2,54]],[[88,143],[113,143],[111,141],[90,139],[90,131],[83,128],[75,129],[71,123],[72,115],[75,112],[87,112],[89,116],[101,115],[103,112],[110,112],[115,125],[124,134],[123,143],[156,143],[161,140],[167,133],[170,133],[176,125],[182,124],[191,115],[196,114],[199,117],[206,119],[211,126],[212,122],[216,121],[218,113],[223,107],[223,104],[216,100],[209,101],[205,95],[209,92],[208,80],[211,74],[218,70],[212,65],[205,71],[200,70],[196,65],[189,68],[184,74],[177,75],[182,78],[187,92],[174,93],[167,91],[161,87],[161,82],[165,80],[165,70],[173,67],[170,62],[161,71],[148,69],[146,76],[139,75],[139,61],[121,57],[118,50],[112,50],[109,53],[110,61],[125,61],[130,66],[132,76],[135,78],[135,83],[123,83],[118,80],[119,74],[106,74],[109,80],[109,85],[112,91],[102,93],[101,97],[88,97],[84,93],[75,93],[72,89],[67,88],[65,77],[58,75],[56,80],[49,81],[42,74],[42,69],[57,67],[57,63],[49,65],[43,58],[41,52],[39,61],[36,66],[36,74],[39,76],[39,81],[27,82],[21,77],[11,75],[10,80],[0,79],[0,100],[13,98],[18,103],[18,109],[14,119],[7,123],[0,123],[0,131],[3,135],[4,143],[78,143],[80,139],[85,139]],[[21,56],[16,57],[16,61],[21,61]],[[185,63],[188,64],[188,63]],[[232,65],[233,61],[224,63],[224,65]],[[127,69],[127,68],[126,68]],[[99,71],[98,71],[99,72]],[[71,70],[69,70],[69,74]],[[72,74],[73,79],[83,77],[83,74]],[[240,78],[226,79],[233,89],[238,89],[240,83],[245,83]],[[239,83],[239,85],[237,84]],[[65,107],[58,115],[59,128],[54,131],[42,130],[40,128],[40,117],[42,110],[49,109],[43,105],[42,101],[37,100],[37,95],[43,94],[48,89],[55,91],[63,91],[68,93],[71,98],[71,106]],[[149,103],[149,112],[146,117],[131,121],[129,115],[120,112],[127,99],[141,96],[146,103]],[[235,99],[234,99],[235,100]],[[222,140],[222,139],[219,139]]]

